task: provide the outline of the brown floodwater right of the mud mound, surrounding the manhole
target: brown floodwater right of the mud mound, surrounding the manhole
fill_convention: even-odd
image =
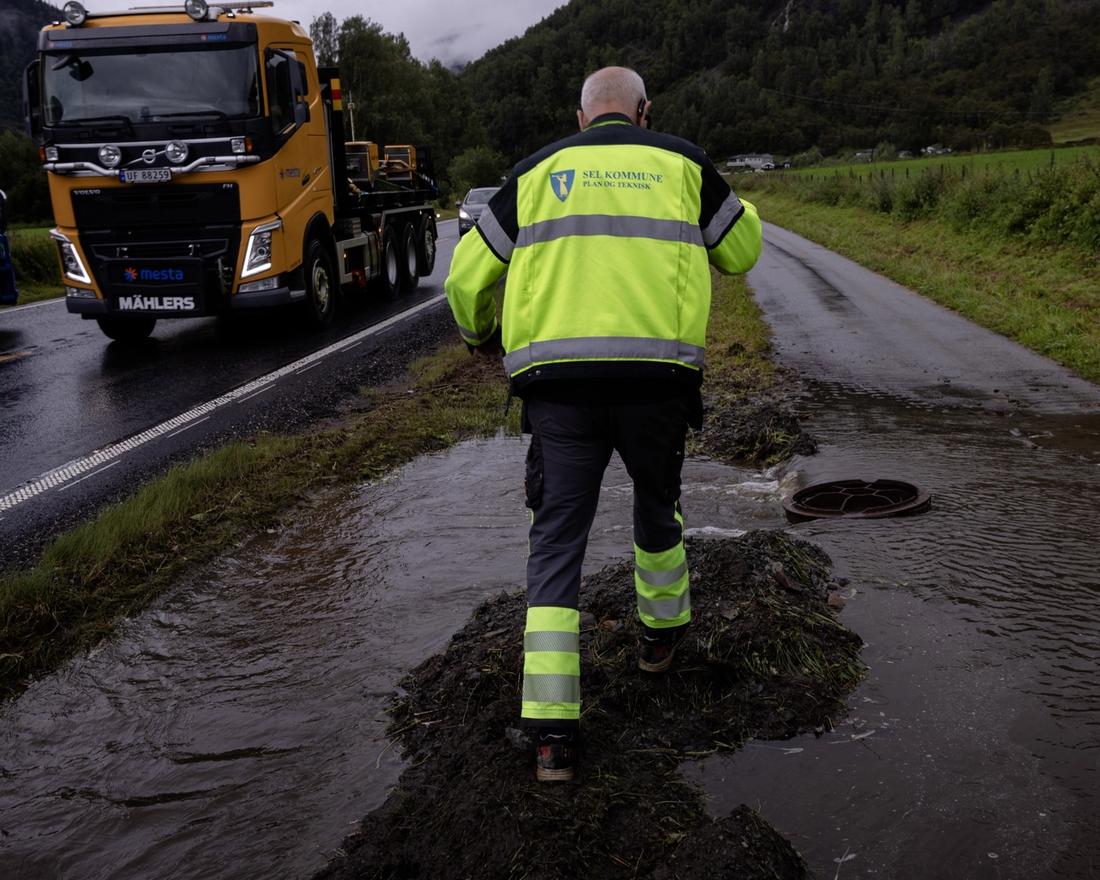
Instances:
[[[870,673],[849,718],[690,772],[824,877],[1100,877],[1100,413],[818,388],[803,482],[894,476],[924,516],[810,522]]]

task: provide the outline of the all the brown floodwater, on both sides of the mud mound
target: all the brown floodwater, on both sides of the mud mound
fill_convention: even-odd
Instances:
[[[815,399],[822,450],[785,476],[689,462],[694,534],[784,527],[793,480],[911,479],[934,508],[793,527],[850,579],[869,676],[835,730],[686,772],[715,812],[759,809],[822,877],[1094,876],[1100,417]],[[400,771],[394,682],[520,583],[522,451],[466,443],[319,504],[4,710],[0,876],[320,867]],[[613,466],[588,570],[628,552],[628,517]]]

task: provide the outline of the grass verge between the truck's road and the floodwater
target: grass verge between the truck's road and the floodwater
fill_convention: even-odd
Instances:
[[[710,377],[728,393],[768,375],[767,326],[739,279],[715,290]],[[188,568],[276,522],[311,493],[375,479],[504,424],[498,362],[447,345],[406,381],[365,389],[339,427],[261,435],[173,468],[54,540],[37,564],[0,575],[0,697],[109,635]],[[517,432],[519,407],[507,428]]]

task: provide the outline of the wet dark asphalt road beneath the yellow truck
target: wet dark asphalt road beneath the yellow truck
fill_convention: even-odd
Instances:
[[[128,346],[61,300],[0,312],[0,568],[176,462],[308,427],[399,375],[454,332],[442,283],[457,222],[439,231],[436,272],[417,290],[348,296],[322,332],[287,310],[160,321]]]

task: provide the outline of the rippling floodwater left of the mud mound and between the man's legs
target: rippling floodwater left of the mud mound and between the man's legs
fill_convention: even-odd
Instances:
[[[0,878],[322,867],[400,772],[384,736],[395,682],[521,584],[524,449],[468,443],[318,504],[3,710]],[[690,471],[723,522],[774,520],[774,481]],[[620,468],[604,494],[590,571],[630,547]]]

